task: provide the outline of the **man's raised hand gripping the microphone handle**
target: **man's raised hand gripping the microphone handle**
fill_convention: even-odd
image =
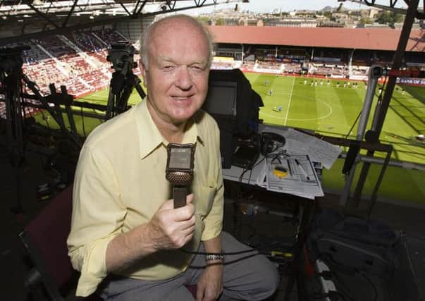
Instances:
[[[178,249],[192,239],[195,231],[193,194],[187,195],[186,206],[174,209],[173,199],[159,207],[148,223],[149,238],[156,250]]]

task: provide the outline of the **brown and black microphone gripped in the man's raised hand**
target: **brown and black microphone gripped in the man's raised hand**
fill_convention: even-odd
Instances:
[[[166,179],[173,184],[174,208],[186,204],[187,186],[193,180],[195,145],[168,143]]]

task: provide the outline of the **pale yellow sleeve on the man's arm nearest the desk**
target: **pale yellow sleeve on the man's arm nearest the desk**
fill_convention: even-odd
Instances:
[[[220,155],[220,132],[218,131],[217,125],[215,125],[216,135],[214,135],[214,147],[216,152],[211,152],[211,160],[213,160],[214,168],[210,170],[215,171],[212,175],[215,177],[214,182],[216,183],[216,192],[214,195],[214,202],[211,207],[211,211],[204,219],[204,232],[202,233],[201,240],[210,240],[220,235],[223,228],[223,211],[224,211],[224,186],[223,186],[223,175],[221,171],[221,155]]]

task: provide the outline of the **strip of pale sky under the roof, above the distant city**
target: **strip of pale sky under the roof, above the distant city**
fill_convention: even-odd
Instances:
[[[398,1],[403,4],[403,1]],[[213,3],[212,0],[206,0],[205,4]],[[325,6],[338,7],[341,2],[338,0],[250,0],[250,3],[239,2],[238,6],[241,11],[252,11],[257,13],[271,13],[275,10],[281,11],[294,11],[294,10],[320,10]],[[388,6],[390,0],[376,0],[376,4]],[[187,5],[187,4],[186,4]],[[365,4],[352,3],[351,1],[345,1],[343,3],[345,8],[367,8]],[[400,7],[400,5],[397,5]],[[216,6],[208,6],[204,8],[193,9],[191,14],[207,13],[214,11],[214,9],[223,8],[234,8],[235,3],[232,4],[221,4]]]

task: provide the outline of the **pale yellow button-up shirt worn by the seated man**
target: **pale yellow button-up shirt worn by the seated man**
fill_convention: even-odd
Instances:
[[[223,179],[218,126],[199,111],[182,143],[195,143],[194,193],[196,227],[185,248],[197,250],[201,240],[221,233]],[[99,125],[82,147],[75,172],[73,216],[68,254],[81,272],[77,295],[87,296],[106,277],[106,247],[120,233],[147,223],[172,198],[165,178],[166,145],[147,110],[146,100]],[[187,268],[192,255],[159,251],[122,271],[144,280],[171,278]]]

